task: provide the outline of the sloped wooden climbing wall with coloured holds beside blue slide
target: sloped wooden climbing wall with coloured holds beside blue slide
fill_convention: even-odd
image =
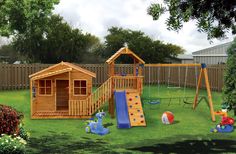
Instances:
[[[129,121],[131,126],[146,126],[141,99],[138,93],[126,93]]]

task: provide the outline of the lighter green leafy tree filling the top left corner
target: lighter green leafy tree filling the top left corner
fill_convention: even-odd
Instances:
[[[48,18],[52,15],[54,5],[58,3],[59,0],[1,0],[0,35],[11,37],[18,43],[22,42],[18,44],[21,49],[26,49],[25,45],[28,43],[28,50],[23,53],[32,58],[37,53],[32,54],[31,47],[35,49],[38,44],[32,45],[35,42],[31,39],[42,40],[41,32],[47,29]]]

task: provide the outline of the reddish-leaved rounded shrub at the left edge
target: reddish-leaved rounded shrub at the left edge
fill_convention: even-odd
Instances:
[[[18,134],[21,117],[15,109],[0,105],[0,134]]]

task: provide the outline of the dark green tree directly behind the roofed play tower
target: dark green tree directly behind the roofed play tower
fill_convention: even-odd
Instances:
[[[166,58],[173,58],[184,52],[179,46],[153,40],[141,31],[112,27],[108,32],[109,34],[105,36],[105,48],[99,53],[105,59],[123,47],[124,43],[127,43],[128,47],[146,63],[163,63]],[[124,57],[120,61],[128,62],[129,59]]]

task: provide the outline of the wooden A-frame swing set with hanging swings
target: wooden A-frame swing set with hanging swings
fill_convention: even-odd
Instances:
[[[196,109],[197,105],[202,101],[205,100],[208,103],[208,106],[210,108],[210,113],[211,113],[211,119],[212,121],[215,121],[215,114],[214,114],[214,108],[213,108],[213,102],[212,102],[212,95],[211,95],[211,89],[210,89],[210,84],[209,84],[209,80],[208,80],[208,73],[207,73],[207,68],[206,68],[206,64],[145,64],[146,67],[148,67],[149,69],[149,104],[160,104],[161,97],[150,97],[150,79],[151,79],[151,67],[152,68],[157,68],[157,92],[159,94],[160,92],[160,68],[161,67],[168,67],[168,78],[167,78],[167,88],[168,88],[168,93],[169,93],[169,89],[174,89],[175,91],[178,91],[179,89],[181,89],[181,78],[184,76],[184,90],[183,90],[183,96],[182,97],[173,97],[170,96],[170,94],[168,94],[170,97],[168,97],[169,99],[169,104],[171,103],[172,99],[179,99],[179,102],[181,102],[181,99],[183,99],[183,103],[185,104],[192,104],[193,109]],[[178,72],[178,83],[176,84],[176,86],[171,85],[170,83],[170,79],[172,77],[171,74],[171,67],[175,68],[175,70],[177,70]],[[185,67],[185,73],[184,75],[181,76],[181,68]],[[194,96],[194,100],[193,102],[189,102],[189,99],[192,97],[187,97],[186,96],[186,87],[187,87],[187,77],[188,77],[188,70],[189,67],[194,67],[195,68],[195,85],[196,85],[196,94]],[[178,69],[176,69],[178,68]],[[198,70],[200,68],[200,73],[198,74]],[[175,73],[175,75],[176,75]],[[199,90],[201,88],[201,83],[202,83],[202,78],[205,79],[205,86],[206,86],[206,90],[207,90],[207,96],[208,99],[204,96],[200,96],[199,95]]]

